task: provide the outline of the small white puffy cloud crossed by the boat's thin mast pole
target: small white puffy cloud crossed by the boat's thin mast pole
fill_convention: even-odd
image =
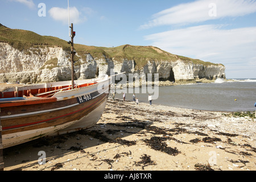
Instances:
[[[52,7],[48,12],[53,19],[68,24],[68,8],[63,9],[60,7]],[[86,20],[86,17],[82,16],[76,7],[69,8],[69,18],[70,22],[75,24],[84,22]]]

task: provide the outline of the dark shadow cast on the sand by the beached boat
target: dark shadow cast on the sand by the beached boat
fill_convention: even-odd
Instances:
[[[38,160],[42,155],[39,154],[40,151],[46,152],[47,163],[49,160],[62,158],[65,155],[77,151],[93,156],[92,153],[88,152],[88,149],[99,144],[116,143],[118,145],[131,146],[136,144],[136,141],[122,138],[133,134],[140,134],[142,130],[150,127],[153,123],[151,121],[138,121],[137,119],[131,121],[130,118],[125,117],[119,119],[124,122],[109,122],[104,125],[98,123],[91,129],[80,130],[55,137],[44,137],[19,144],[18,146],[5,148],[3,150],[5,168],[28,162],[34,163],[29,163],[26,166],[13,170],[22,171],[28,167],[34,166],[38,164]],[[58,163],[57,166],[52,166],[52,170],[58,168],[58,165],[61,167],[62,164]]]

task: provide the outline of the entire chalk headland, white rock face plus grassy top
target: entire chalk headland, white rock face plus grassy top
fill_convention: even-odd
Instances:
[[[159,73],[159,80],[225,78],[225,66],[172,55],[152,46],[115,48],[75,44],[76,79],[112,73]],[[65,40],[0,24],[0,82],[40,83],[71,80],[70,45]]]

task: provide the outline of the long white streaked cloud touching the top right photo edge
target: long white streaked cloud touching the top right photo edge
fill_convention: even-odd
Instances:
[[[216,10],[216,14],[211,16],[209,14],[212,13],[213,9]],[[256,12],[255,0],[199,0],[160,11],[152,15],[152,20],[143,24],[140,28],[198,23],[224,17],[243,16],[254,12]]]

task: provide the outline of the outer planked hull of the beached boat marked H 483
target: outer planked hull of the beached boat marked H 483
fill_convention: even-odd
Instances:
[[[108,91],[109,80],[105,80],[47,99],[0,102],[3,148],[92,127],[105,109]]]

